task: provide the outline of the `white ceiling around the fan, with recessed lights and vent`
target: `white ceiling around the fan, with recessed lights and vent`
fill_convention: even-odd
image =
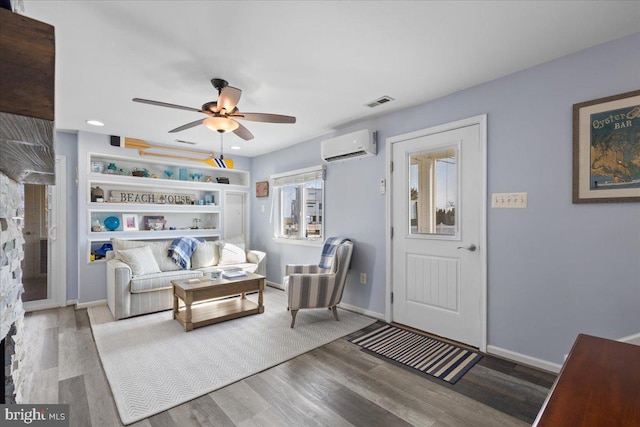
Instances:
[[[225,150],[256,156],[640,31],[638,1],[24,1],[55,26],[56,127],[219,147],[204,126],[169,134],[217,99],[214,77],[243,90],[245,121]],[[365,104],[389,95],[395,101]],[[202,115],[202,118],[205,116]],[[102,128],[85,123],[98,119]]]

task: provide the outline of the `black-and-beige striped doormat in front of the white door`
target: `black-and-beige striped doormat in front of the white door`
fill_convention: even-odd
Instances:
[[[455,384],[482,354],[425,335],[384,325],[350,340],[373,355]]]

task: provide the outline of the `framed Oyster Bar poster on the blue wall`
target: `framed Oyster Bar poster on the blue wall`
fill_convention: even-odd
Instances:
[[[640,202],[640,90],[573,105],[573,203]]]

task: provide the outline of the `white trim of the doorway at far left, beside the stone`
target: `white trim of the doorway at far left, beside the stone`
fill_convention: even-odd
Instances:
[[[24,303],[25,311],[64,307],[67,303],[67,157],[56,156],[56,185],[50,195],[47,250],[47,299]],[[55,237],[52,241],[51,237]]]

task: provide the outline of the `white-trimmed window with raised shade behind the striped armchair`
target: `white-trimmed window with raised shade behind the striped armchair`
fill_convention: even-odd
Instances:
[[[324,241],[324,166],[271,176],[274,237]]]

